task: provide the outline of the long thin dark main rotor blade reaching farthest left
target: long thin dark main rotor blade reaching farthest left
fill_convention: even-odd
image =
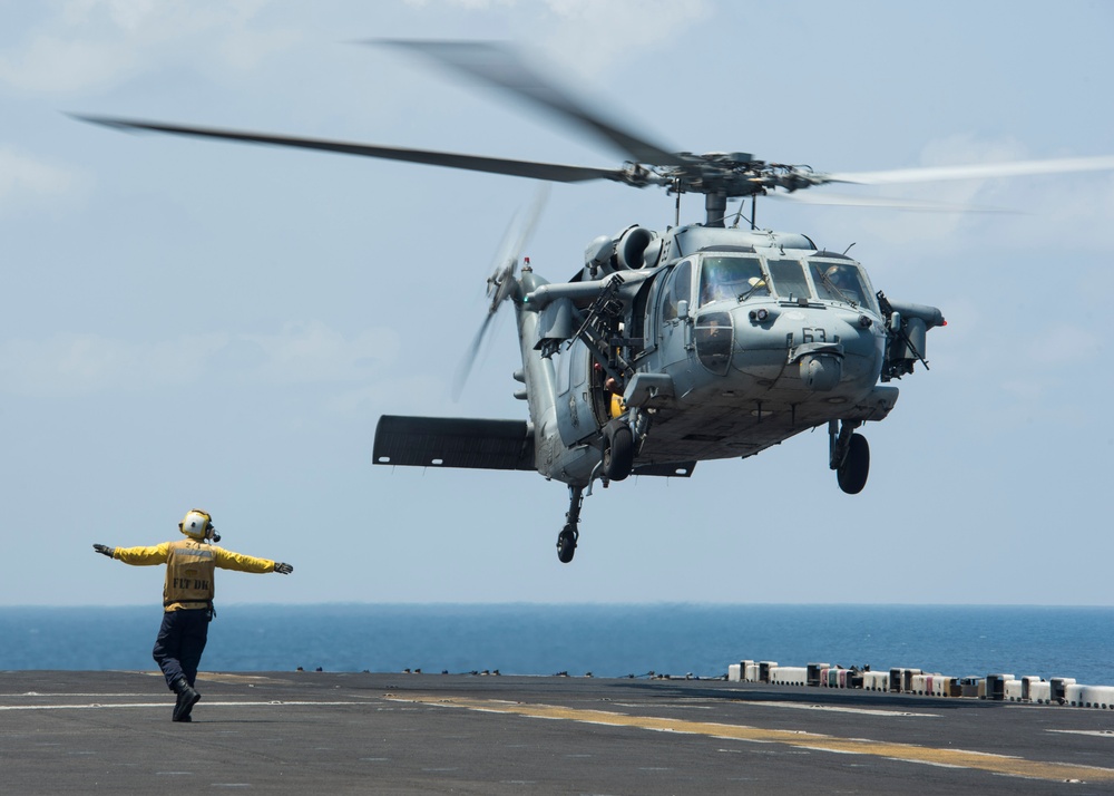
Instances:
[[[424,163],[431,166],[463,168],[471,172],[488,174],[506,174],[515,177],[547,179],[554,183],[580,183],[588,179],[613,179],[625,182],[625,172],[616,168],[592,168],[588,166],[565,166],[555,163],[537,163],[534,161],[508,161],[500,157],[480,157],[478,155],[459,155],[451,152],[433,152],[429,149],[405,149],[402,147],[374,146],[371,144],[353,144],[322,138],[299,138],[293,136],[266,135],[243,130],[217,129],[212,127],[193,127],[188,125],[169,125],[159,122],[140,119],[121,119],[110,116],[81,116],[71,114],[82,122],[115,127],[118,129],[169,133],[173,135],[194,136],[198,138],[219,138],[238,140],[245,144],[265,144],[267,146],[294,147],[299,149],[320,149],[345,155],[378,157],[387,161],[405,161],[408,163]]]

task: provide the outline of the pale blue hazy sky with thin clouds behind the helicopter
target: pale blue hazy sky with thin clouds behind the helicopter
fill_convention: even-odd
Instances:
[[[383,38],[498,40],[667,148],[829,172],[1114,154],[1114,6],[715,0],[0,0],[0,605],[159,599],[91,545],[179,538],[294,565],[217,602],[1114,605],[1114,174],[859,188],[1003,207],[760,202],[939,307],[930,370],[869,424],[586,498],[529,473],[373,466],[381,415],[524,418],[507,313],[452,381],[525,179],[138,136],[104,114],[585,166],[623,155]],[[852,188],[839,188],[851,193]],[[833,192],[834,193],[834,192]],[[700,221],[686,197],[683,221]],[[673,198],[555,186],[550,281]]]

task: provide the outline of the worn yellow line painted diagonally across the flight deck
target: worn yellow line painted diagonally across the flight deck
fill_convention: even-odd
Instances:
[[[560,719],[610,727],[634,727],[661,732],[705,735],[712,738],[784,744],[786,746],[818,749],[851,755],[870,755],[908,763],[924,763],[955,768],[970,768],[1052,782],[1084,780],[1089,783],[1114,782],[1114,769],[1095,766],[1075,766],[1066,763],[1026,760],[1005,755],[993,755],[962,749],[940,749],[915,744],[891,744],[861,738],[838,738],[814,732],[762,729],[745,725],[726,725],[712,721],[692,721],[655,716],[631,716],[606,710],[565,708],[555,705],[529,705],[494,699],[465,697],[410,696],[389,697],[400,702],[418,702],[433,707],[463,708],[492,714],[509,714],[537,719]]]

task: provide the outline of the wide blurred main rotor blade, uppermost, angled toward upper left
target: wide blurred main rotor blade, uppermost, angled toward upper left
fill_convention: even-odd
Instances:
[[[443,66],[466,72],[481,82],[528,99],[603,136],[629,155],[635,163],[655,166],[677,166],[685,163],[675,153],[667,152],[661,146],[605,120],[598,113],[589,110],[582,103],[530,70],[518,55],[507,47],[487,41],[418,41],[408,39],[381,39],[368,43],[413,50]]]

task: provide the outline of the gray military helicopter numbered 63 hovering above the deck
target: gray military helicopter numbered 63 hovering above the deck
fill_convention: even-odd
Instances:
[[[670,152],[588,110],[531,71],[509,49],[482,42],[378,42],[417,51],[481,82],[537,104],[618,147],[619,168],[405,149],[315,138],[82,116],[129,130],[408,161],[539,181],[608,179],[661,186],[676,197],[674,224],[632,225],[593,240],[584,263],[548,282],[521,240],[488,279],[490,305],[471,357],[496,311],[517,318],[521,369],[515,394],[529,419],[383,416],[378,465],[537,470],[568,485],[557,538],[573,560],[580,508],[592,485],[631,475],[690,477],[706,459],[746,458],[825,426],[828,466],[839,487],[867,483],[870,449],[858,431],[883,420],[898,388],[926,369],[926,337],[945,326],[940,310],[874,290],[846,252],[819,249],[808,235],[759,229],[758,197],[793,196],[831,183],[883,184],[1114,168],[1114,157],[823,173],[768,163],[741,152]],[[703,223],[681,224],[681,197],[703,194]],[[741,201],[733,223],[727,201]],[[751,200],[749,223],[741,226]],[[869,201],[868,201],[869,202]],[[908,206],[901,203],[899,206]],[[932,208],[920,203],[918,206]],[[936,208],[955,210],[938,205]],[[531,213],[536,217],[537,207]],[[527,224],[528,226],[528,224]],[[458,375],[458,387],[471,360]]]

